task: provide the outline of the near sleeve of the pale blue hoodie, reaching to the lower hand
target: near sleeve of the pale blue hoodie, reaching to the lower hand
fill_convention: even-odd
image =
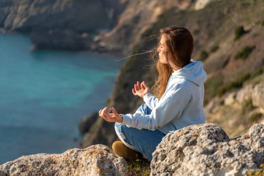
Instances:
[[[187,90],[182,83],[171,86],[162,98],[156,103],[150,115],[126,114],[123,115],[122,124],[138,129],[148,129],[154,131],[162,127],[174,118],[179,118],[183,110],[188,105],[189,98]]]

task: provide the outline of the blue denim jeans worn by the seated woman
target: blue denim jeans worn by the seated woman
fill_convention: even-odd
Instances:
[[[151,113],[151,109],[149,109],[146,104],[143,104],[137,109],[136,113],[148,115]],[[156,146],[165,136],[158,130],[139,130],[137,128],[129,128],[126,125],[118,123],[115,124],[115,130],[119,139],[126,146],[146,155],[150,161],[152,160],[152,153],[156,150]]]

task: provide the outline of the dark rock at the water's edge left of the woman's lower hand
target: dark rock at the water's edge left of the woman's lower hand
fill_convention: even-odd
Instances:
[[[89,129],[96,122],[97,118],[98,118],[98,112],[94,112],[90,116],[82,118],[79,122],[79,127],[78,127],[79,132],[81,133],[88,132]]]

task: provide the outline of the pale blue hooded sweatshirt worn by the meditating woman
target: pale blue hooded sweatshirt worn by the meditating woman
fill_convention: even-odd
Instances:
[[[206,78],[202,62],[192,60],[171,74],[160,100],[151,94],[143,97],[152,110],[151,114],[126,114],[121,124],[152,131],[157,129],[167,134],[189,125],[205,123],[203,101]]]

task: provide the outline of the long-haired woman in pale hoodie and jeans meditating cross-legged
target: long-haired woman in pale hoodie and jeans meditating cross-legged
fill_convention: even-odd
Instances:
[[[135,114],[118,114],[114,108],[99,111],[100,117],[116,122],[115,130],[122,141],[113,150],[125,159],[135,159],[137,151],[152,159],[161,139],[170,131],[205,123],[203,112],[204,81],[207,74],[201,61],[191,59],[193,36],[186,28],[167,27],[160,30],[157,46],[158,78],[154,95],[148,85],[138,82],[132,93],[143,98]]]

